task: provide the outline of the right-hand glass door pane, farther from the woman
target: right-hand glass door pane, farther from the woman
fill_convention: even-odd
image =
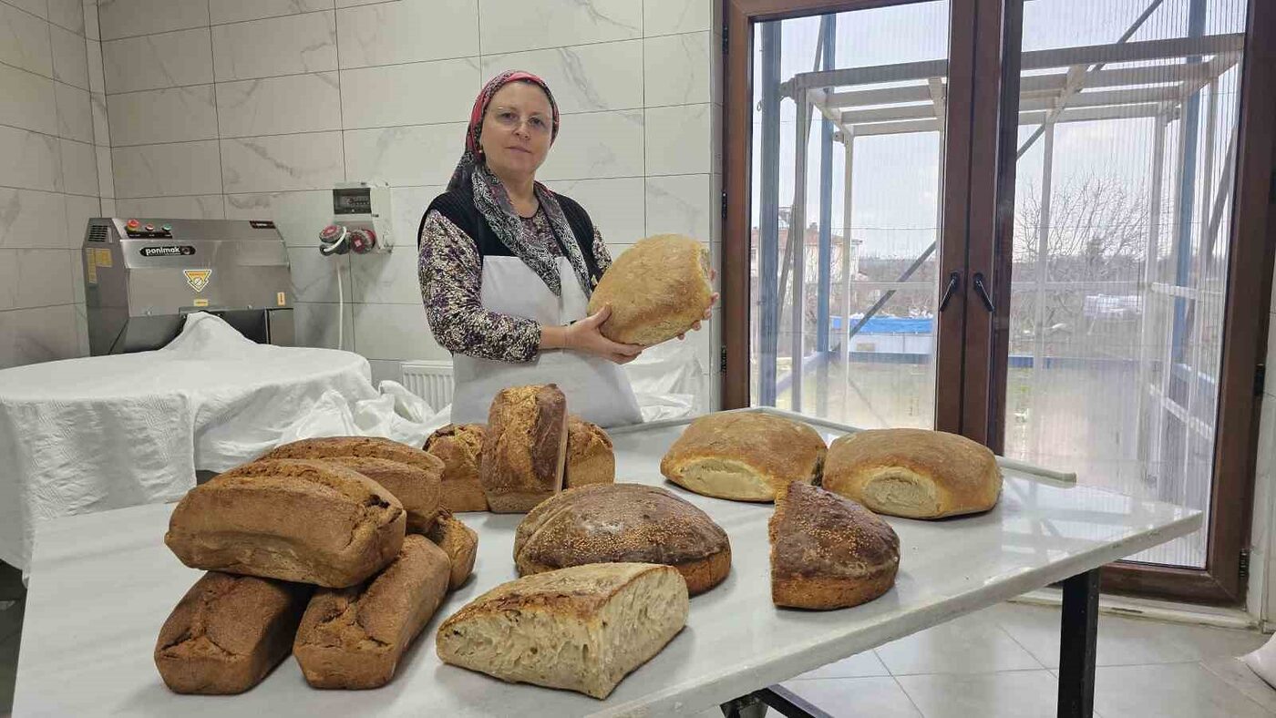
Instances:
[[[1213,497],[1220,481],[1247,478],[1220,476],[1216,458],[1248,13],[1245,0],[1012,11],[1014,200],[1000,228],[1009,283],[993,434],[1007,457],[1206,513],[1199,532],[1132,557],[1145,568],[1217,569],[1211,541],[1239,539],[1224,534],[1243,525],[1243,508]]]

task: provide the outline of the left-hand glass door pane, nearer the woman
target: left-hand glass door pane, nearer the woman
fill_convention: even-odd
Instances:
[[[966,5],[929,0],[753,26],[755,406],[859,427],[956,431],[956,399],[947,416],[937,402],[938,377],[960,372],[961,353],[960,321],[939,320],[965,245],[963,216],[946,214],[946,176],[960,189],[965,157],[953,158],[948,140],[967,131],[949,128],[951,105],[968,96],[949,79],[953,37],[968,37],[952,27],[954,4]],[[948,292],[954,316],[960,282]]]

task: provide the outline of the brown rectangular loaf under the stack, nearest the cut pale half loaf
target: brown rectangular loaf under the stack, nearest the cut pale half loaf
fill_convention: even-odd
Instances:
[[[411,534],[376,578],[315,592],[292,645],[306,682],[316,689],[388,684],[447,590],[448,555],[424,536]]]

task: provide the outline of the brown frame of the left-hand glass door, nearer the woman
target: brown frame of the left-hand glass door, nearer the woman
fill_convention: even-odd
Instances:
[[[907,5],[928,0],[723,0],[723,29],[727,42],[723,61],[722,139],[725,222],[722,236],[722,408],[749,406],[749,259],[752,219],[753,147],[753,26],[758,22]],[[948,36],[948,112],[944,133],[946,179],[943,190],[943,238],[939,242],[939,277],[962,274],[962,291],[939,314],[935,356],[935,427],[962,430],[962,371],[966,321],[966,246],[968,232],[968,171],[949,172],[949,167],[968,167],[971,162],[972,87],[981,66],[975,61],[976,15],[979,6],[994,6],[998,0],[949,0]],[[995,68],[985,82],[995,87]],[[938,295],[938,287],[937,287]],[[946,338],[944,341],[939,341]],[[957,390],[940,392],[939,386]]]

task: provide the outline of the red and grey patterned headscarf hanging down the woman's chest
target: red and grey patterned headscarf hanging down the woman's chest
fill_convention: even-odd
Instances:
[[[468,184],[473,189],[475,207],[478,208],[484,219],[487,221],[487,226],[496,233],[501,244],[509,247],[509,251],[514,253],[514,256],[523,260],[523,264],[545,282],[545,286],[554,292],[554,296],[563,296],[558,261],[550,254],[549,247],[544,242],[537,241],[535,232],[514,212],[514,205],[509,201],[509,194],[505,191],[504,185],[501,185],[500,179],[487,168],[482,147],[478,144],[478,136],[482,133],[482,120],[487,114],[487,106],[491,103],[493,96],[496,94],[496,91],[513,82],[531,83],[545,92],[545,97],[549,98],[550,108],[554,112],[550,143],[553,144],[558,138],[558,103],[554,102],[554,94],[550,92],[549,85],[545,84],[545,80],[531,73],[507,70],[489,80],[475,99],[473,110],[470,112],[470,128],[466,130],[466,150],[461,156],[461,162],[457,163],[456,171],[452,172],[448,190],[461,189]],[[541,209],[545,210],[545,217],[550,222],[550,228],[559,238],[563,254],[572,263],[575,278],[581,283],[584,296],[588,297],[592,293],[590,270],[586,267],[584,256],[581,254],[581,246],[575,241],[575,233],[572,232],[572,226],[568,224],[567,216],[563,214],[563,207],[554,193],[545,185],[536,182],[535,193]]]

